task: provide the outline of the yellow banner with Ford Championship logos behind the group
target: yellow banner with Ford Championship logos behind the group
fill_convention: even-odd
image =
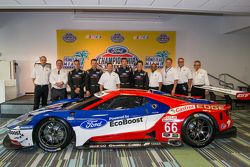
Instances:
[[[94,58],[100,68],[105,68],[108,62],[116,68],[123,57],[132,68],[138,60],[144,62],[145,69],[153,62],[162,68],[168,57],[175,62],[175,53],[175,31],[57,30],[57,57],[64,61],[66,69],[72,69],[78,59],[87,70]]]

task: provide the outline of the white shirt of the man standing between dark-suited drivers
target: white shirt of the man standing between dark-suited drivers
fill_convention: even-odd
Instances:
[[[117,73],[108,71],[103,73],[99,82],[100,85],[103,85],[104,89],[115,90],[117,89],[116,84],[120,84],[120,78]]]

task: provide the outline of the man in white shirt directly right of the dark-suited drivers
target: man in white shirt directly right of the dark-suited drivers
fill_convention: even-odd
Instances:
[[[157,64],[151,64],[151,72],[149,73],[149,88],[155,90],[161,90],[162,87],[162,76],[157,71]]]

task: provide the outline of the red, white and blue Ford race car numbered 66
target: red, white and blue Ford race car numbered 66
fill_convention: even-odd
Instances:
[[[234,136],[229,105],[156,90],[106,90],[66,99],[18,117],[7,126],[7,148],[38,145],[48,152],[77,148],[210,144]]]

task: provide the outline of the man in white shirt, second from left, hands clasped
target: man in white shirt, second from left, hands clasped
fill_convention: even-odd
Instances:
[[[56,68],[51,71],[49,81],[51,83],[51,100],[61,100],[67,98],[68,73],[63,67],[63,61],[56,61]]]

